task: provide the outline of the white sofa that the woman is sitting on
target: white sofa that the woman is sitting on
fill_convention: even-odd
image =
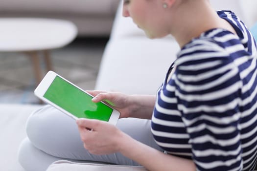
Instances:
[[[257,12],[250,10],[257,5],[257,1],[211,0],[211,2],[216,9],[232,9],[249,27],[257,21]],[[95,89],[129,94],[155,94],[178,50],[179,47],[172,37],[160,40],[145,38],[144,33],[132,23],[130,18],[121,17],[121,8],[119,8],[110,41],[103,54]],[[31,111],[38,107],[40,106],[0,105],[1,171],[23,171],[17,161],[17,150],[25,137],[26,119]],[[54,167],[56,165],[58,167]],[[74,171],[80,171],[78,168],[83,170],[86,167],[81,167],[79,164],[70,164],[70,167],[67,165],[69,164],[58,163],[53,165],[56,169],[50,169],[66,171],[65,168],[74,167]]]

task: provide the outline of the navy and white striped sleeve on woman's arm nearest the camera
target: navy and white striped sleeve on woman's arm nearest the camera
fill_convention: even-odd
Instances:
[[[193,161],[199,171],[241,170],[238,68],[226,52],[191,54],[177,60],[173,77]]]

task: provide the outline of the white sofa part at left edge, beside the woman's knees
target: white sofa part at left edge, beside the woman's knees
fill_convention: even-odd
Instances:
[[[21,171],[18,163],[18,148],[26,137],[25,125],[33,110],[40,105],[0,104],[0,170]]]

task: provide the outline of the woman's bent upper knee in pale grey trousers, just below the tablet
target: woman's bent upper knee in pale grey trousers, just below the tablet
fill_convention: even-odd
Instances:
[[[75,120],[51,106],[30,115],[26,132],[31,143],[47,153],[81,143]]]

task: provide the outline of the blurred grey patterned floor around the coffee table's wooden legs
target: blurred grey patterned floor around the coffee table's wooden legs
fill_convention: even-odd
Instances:
[[[83,89],[93,89],[107,38],[76,39],[52,50],[53,70]],[[44,70],[44,62],[42,72]],[[31,62],[23,53],[0,53],[0,103],[38,104]]]

